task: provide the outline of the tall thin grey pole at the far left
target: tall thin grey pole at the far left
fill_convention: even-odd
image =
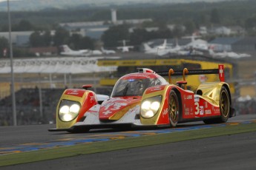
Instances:
[[[13,126],[17,126],[17,118],[16,118],[16,99],[15,99],[15,89],[14,89],[14,75],[13,75],[13,42],[12,42],[12,27],[10,24],[10,4],[9,0],[7,0],[7,10],[8,10],[8,22],[9,22],[9,44],[10,44],[10,74],[11,74],[11,83],[10,83],[10,91],[12,94],[12,106],[13,106]]]

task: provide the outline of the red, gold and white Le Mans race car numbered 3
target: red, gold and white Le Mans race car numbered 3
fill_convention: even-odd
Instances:
[[[56,109],[56,129],[50,132],[87,132],[137,126],[177,126],[177,123],[203,120],[224,123],[234,115],[224,66],[218,69],[183,69],[154,72],[138,69],[116,82],[111,97],[83,89],[66,89]],[[196,92],[187,89],[186,75],[219,74],[220,81],[205,82]],[[162,76],[168,76],[169,82]],[[171,76],[183,75],[183,81],[171,83]]]

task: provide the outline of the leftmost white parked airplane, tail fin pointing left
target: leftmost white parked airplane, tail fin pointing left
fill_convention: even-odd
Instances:
[[[102,55],[99,50],[71,50],[67,44],[60,46],[62,52],[61,55],[73,55],[73,56],[90,56],[90,55]]]

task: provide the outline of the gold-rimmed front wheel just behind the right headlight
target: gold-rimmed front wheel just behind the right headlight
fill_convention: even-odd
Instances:
[[[176,92],[174,92],[174,90],[171,90],[168,104],[169,104],[170,126],[175,127],[179,120],[180,103],[179,103],[177,94]]]

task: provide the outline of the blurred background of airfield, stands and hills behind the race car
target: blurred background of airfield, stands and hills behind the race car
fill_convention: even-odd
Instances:
[[[256,114],[255,0],[9,3],[10,20],[0,1],[0,126],[15,125],[12,89],[17,125],[55,123],[64,89],[93,84],[94,92],[111,95],[117,79],[138,67],[224,64],[237,114]],[[217,79],[191,75],[188,88]]]

